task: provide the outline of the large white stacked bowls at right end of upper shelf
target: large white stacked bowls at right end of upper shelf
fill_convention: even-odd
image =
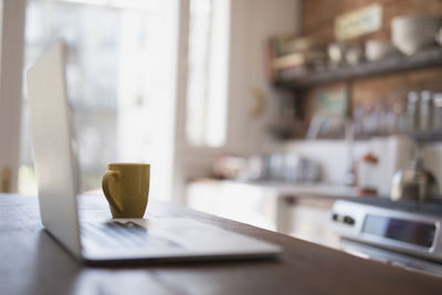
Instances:
[[[402,53],[411,55],[434,45],[441,27],[442,15],[396,17],[391,22],[392,41]]]

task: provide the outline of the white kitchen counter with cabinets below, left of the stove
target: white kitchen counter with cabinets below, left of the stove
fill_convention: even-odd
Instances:
[[[358,198],[357,189],[328,183],[200,178],[187,187],[192,209],[333,247],[339,239],[329,211],[335,200],[348,198]]]

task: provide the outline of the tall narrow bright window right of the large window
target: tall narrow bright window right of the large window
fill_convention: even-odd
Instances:
[[[225,143],[230,1],[191,0],[186,135],[192,146]]]

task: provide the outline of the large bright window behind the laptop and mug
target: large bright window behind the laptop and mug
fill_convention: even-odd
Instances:
[[[29,1],[24,69],[54,40],[67,44],[83,191],[101,187],[108,162],[143,161],[155,171],[150,196],[169,196],[176,6],[173,0]],[[34,193],[25,95],[22,108],[19,191]]]

